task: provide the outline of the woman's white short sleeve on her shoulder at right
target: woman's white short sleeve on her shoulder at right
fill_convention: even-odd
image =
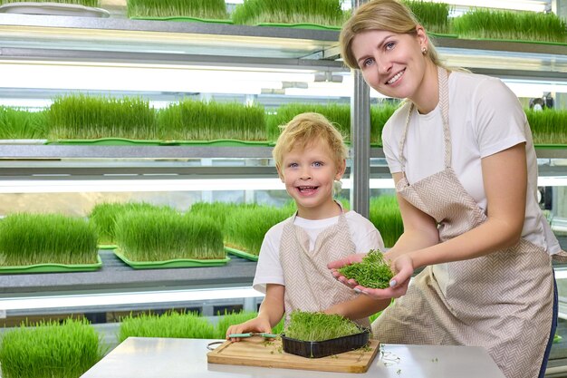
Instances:
[[[481,158],[526,141],[524,109],[504,82],[487,77],[478,85],[473,103]]]

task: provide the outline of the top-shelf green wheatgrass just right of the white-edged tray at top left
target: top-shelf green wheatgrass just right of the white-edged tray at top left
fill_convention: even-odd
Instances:
[[[128,0],[127,5],[129,17],[229,17],[225,0]]]

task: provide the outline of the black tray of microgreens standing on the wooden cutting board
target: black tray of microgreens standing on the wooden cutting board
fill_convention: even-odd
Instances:
[[[281,337],[284,352],[321,358],[364,347],[370,330],[341,315],[295,310]]]

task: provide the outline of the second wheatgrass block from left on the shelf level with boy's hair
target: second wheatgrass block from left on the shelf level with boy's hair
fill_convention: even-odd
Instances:
[[[51,140],[156,140],[159,134],[156,111],[138,97],[62,96],[53,101],[48,120]]]

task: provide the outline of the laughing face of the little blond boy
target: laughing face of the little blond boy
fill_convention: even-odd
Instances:
[[[295,200],[302,218],[330,218],[335,216],[332,199],[335,179],[341,179],[344,162],[337,167],[331,149],[322,141],[313,141],[283,154],[278,168],[285,189]]]

